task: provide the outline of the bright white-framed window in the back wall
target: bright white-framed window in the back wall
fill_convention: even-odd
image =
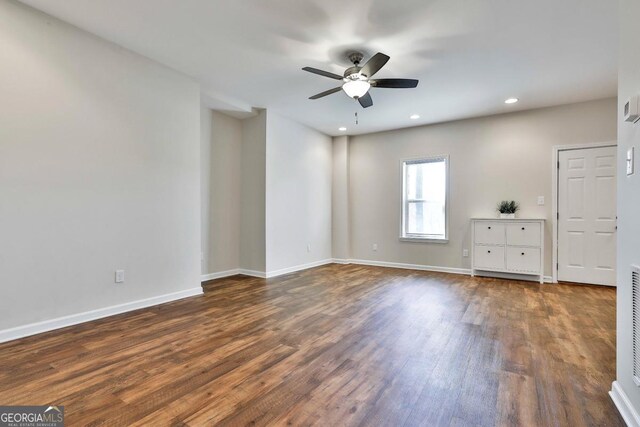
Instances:
[[[402,163],[402,235],[405,239],[447,240],[446,156]]]

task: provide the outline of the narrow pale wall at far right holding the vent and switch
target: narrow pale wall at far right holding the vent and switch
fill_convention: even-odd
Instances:
[[[640,161],[635,174],[626,176],[627,149],[635,147],[640,156],[640,123],[622,121],[622,106],[640,94],[640,2],[620,2],[620,68],[618,75],[618,288],[617,288],[617,383],[629,403],[640,412],[640,389],[633,382],[631,264],[640,265]],[[615,388],[614,388],[615,390]],[[636,420],[640,422],[640,420]]]

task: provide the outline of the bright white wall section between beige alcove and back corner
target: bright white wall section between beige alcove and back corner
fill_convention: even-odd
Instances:
[[[267,112],[267,272],[331,258],[331,162],[329,136]]]

